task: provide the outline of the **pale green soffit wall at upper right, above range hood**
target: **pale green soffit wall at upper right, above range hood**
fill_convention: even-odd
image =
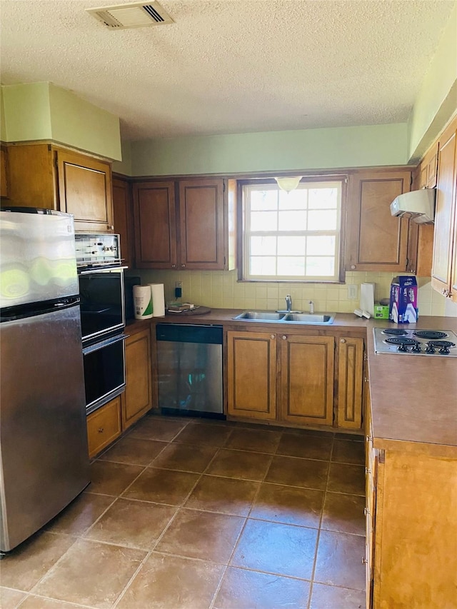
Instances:
[[[424,76],[408,121],[408,157],[418,161],[457,110],[457,5]]]

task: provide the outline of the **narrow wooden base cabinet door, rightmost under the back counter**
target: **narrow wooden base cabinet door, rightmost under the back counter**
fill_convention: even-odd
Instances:
[[[363,387],[363,338],[338,341],[339,428],[361,429]]]

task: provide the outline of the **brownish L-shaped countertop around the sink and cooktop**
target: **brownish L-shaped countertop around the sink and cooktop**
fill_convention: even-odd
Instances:
[[[331,326],[298,325],[234,321],[241,310],[214,309],[205,315],[173,315],[157,317],[153,323],[222,324],[259,331],[287,326],[288,331],[311,333],[319,331],[341,333],[351,331],[366,336],[368,368],[375,446],[394,448],[396,442],[420,443],[433,448],[442,447],[449,455],[457,453],[457,358],[403,356],[396,353],[375,353],[374,327],[401,327],[380,319],[361,319],[351,313],[337,313]],[[126,332],[136,323],[127,324]],[[409,328],[453,330],[457,318],[421,317]],[[413,444],[411,445],[413,447]],[[414,447],[413,447],[414,448]]]

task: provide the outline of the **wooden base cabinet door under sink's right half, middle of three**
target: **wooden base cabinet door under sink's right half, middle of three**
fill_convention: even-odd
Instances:
[[[333,423],[333,336],[281,337],[281,418],[290,423]]]

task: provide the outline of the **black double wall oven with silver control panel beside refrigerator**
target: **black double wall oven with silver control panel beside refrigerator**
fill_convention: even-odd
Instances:
[[[119,235],[76,234],[86,413],[125,389],[124,268]]]

